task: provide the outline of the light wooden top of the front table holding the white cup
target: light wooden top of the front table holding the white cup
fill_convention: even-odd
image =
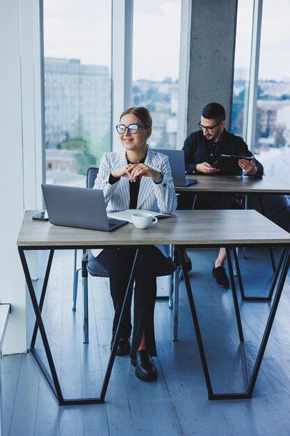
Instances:
[[[112,232],[35,221],[32,216],[37,212],[25,212],[17,246],[45,249],[146,244],[195,247],[290,244],[289,233],[255,210],[177,210],[172,217],[159,219],[145,230],[126,224]]]

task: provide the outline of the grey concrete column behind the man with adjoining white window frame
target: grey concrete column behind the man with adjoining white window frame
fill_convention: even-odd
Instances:
[[[230,129],[237,4],[237,0],[182,2],[179,144],[198,130],[201,111],[209,102],[223,104]]]

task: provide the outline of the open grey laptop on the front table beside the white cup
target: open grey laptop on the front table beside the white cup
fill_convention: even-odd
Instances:
[[[110,232],[128,222],[107,217],[102,189],[61,185],[41,187],[51,224]]]

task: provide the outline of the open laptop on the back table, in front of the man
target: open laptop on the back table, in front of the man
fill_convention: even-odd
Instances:
[[[185,176],[184,150],[163,150],[162,148],[154,148],[153,151],[163,153],[163,155],[169,157],[169,164],[175,186],[190,186],[198,182],[198,180],[195,179],[187,179]]]

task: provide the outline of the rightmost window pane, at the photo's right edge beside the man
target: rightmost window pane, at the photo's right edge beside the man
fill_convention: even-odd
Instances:
[[[289,178],[289,0],[264,0],[255,153],[267,175]]]

